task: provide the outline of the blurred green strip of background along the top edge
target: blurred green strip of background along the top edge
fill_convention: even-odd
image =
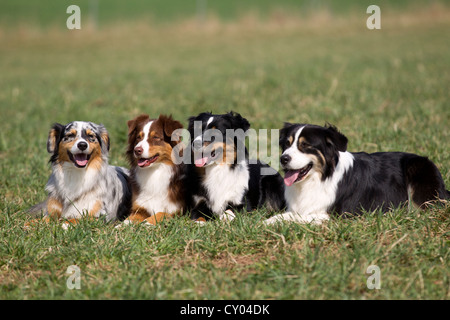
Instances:
[[[3,26],[34,24],[59,25],[65,22],[66,8],[75,4],[82,14],[94,15],[99,26],[107,26],[133,19],[149,19],[153,23],[168,23],[189,17],[213,15],[222,20],[233,20],[249,12],[264,18],[274,10],[285,10],[298,15],[308,15],[317,10],[327,10],[333,15],[345,16],[351,12],[365,13],[369,5],[376,4],[389,10],[432,5],[434,0],[2,0],[0,23]],[[448,3],[447,0],[438,1]]]

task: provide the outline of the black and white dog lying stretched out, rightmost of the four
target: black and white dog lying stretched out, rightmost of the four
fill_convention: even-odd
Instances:
[[[386,212],[408,200],[423,207],[449,199],[428,158],[405,152],[347,151],[334,126],[286,123],[280,131],[287,212],[265,221],[320,224],[330,215]]]

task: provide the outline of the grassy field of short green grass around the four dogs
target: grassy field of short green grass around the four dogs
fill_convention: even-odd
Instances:
[[[65,11],[60,24],[52,15],[11,26],[0,10],[0,299],[449,299],[448,203],[321,227],[265,227],[261,210],[204,227],[180,218],[23,229],[24,210],[46,196],[53,122],[105,124],[110,162],[126,166],[126,121],[140,113],[186,124],[235,110],[255,129],[328,121],[350,151],[429,156],[450,189],[450,9],[414,3],[382,6],[375,31],[365,9],[332,7],[267,7],[264,17],[223,9],[203,22],[194,10],[170,24],[114,23],[117,13],[100,10],[111,18],[79,31],[65,28]],[[12,17],[30,10],[10,8]],[[79,290],[66,286],[70,265]],[[379,290],[367,288],[370,265]]]

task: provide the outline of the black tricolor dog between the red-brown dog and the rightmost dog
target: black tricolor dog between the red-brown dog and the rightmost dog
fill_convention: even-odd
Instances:
[[[235,112],[205,112],[189,118],[194,160],[191,167],[197,176],[193,219],[233,219],[235,210],[284,208],[282,177],[265,163],[249,161],[245,147],[249,128],[247,119]]]

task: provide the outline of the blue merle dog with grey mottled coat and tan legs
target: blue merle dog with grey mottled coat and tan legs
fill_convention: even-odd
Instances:
[[[48,198],[30,212],[42,209],[46,219],[69,219],[70,223],[85,216],[104,216],[107,221],[125,218],[131,206],[128,170],[108,164],[109,148],[103,125],[55,123],[47,140],[52,167],[45,187]]]

